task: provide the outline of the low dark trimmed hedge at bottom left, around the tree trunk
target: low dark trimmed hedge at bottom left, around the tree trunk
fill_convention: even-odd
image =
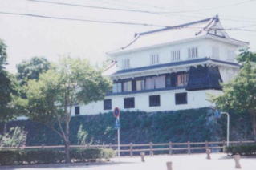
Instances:
[[[113,156],[115,156],[115,152],[108,148],[71,148],[73,162],[109,160]],[[62,163],[64,160],[65,152],[57,149],[0,150],[1,165],[51,164]]]

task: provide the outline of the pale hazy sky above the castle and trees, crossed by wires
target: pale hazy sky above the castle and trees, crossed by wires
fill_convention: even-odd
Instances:
[[[216,14],[230,37],[250,42],[251,50],[256,51],[256,0],[0,0],[0,2],[0,38],[7,45],[9,64],[6,69],[13,73],[16,72],[18,63],[33,56],[43,56],[51,62],[57,62],[59,56],[71,55],[71,57],[89,59],[91,64],[100,65],[108,59],[106,52],[125,46],[135,33],[161,28],[159,26],[175,26],[211,18]],[[134,12],[85,6],[118,8]],[[2,14],[3,12],[158,26],[37,18]]]

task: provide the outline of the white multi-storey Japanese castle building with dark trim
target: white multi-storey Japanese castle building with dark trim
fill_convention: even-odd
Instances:
[[[117,67],[112,91],[103,101],[75,106],[73,114],[212,106],[209,94],[221,94],[221,83],[238,73],[235,52],[247,45],[230,38],[217,16],[135,34],[127,46],[108,52]]]

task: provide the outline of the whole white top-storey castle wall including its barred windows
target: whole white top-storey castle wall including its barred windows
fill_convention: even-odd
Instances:
[[[128,68],[146,67],[152,64],[171,63],[205,57],[235,62],[236,50],[237,46],[204,38],[118,55],[116,56],[116,66],[119,71]]]

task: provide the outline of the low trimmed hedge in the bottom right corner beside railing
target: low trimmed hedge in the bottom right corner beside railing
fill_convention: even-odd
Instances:
[[[237,153],[242,156],[256,155],[256,144],[242,144],[229,146],[226,148],[226,152],[231,155]]]

